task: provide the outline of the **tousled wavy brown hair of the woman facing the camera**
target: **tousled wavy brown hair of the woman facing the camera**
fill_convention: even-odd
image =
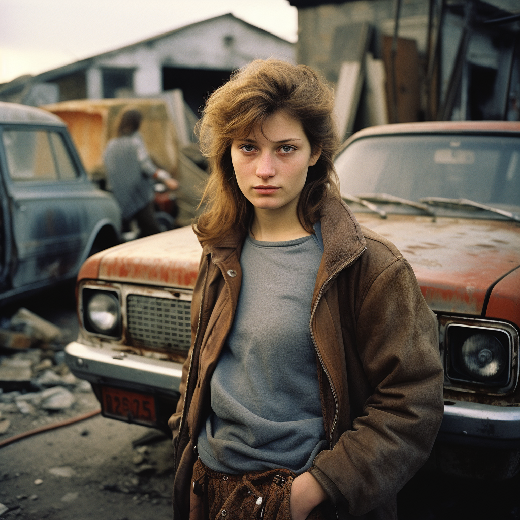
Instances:
[[[231,230],[245,232],[253,218],[253,205],[238,187],[231,163],[233,139],[247,137],[269,115],[283,111],[300,121],[311,153],[321,155],[309,166],[297,204],[300,224],[314,233],[313,224],[332,193],[340,196],[333,158],[339,146],[332,120],[334,98],[327,83],[305,65],[275,59],[255,60],[233,73],[208,98],[198,123],[202,152],[210,165],[201,204],[206,209],[193,229],[203,243],[214,244]]]

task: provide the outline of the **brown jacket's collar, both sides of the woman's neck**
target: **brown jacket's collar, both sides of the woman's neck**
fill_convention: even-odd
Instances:
[[[314,229],[316,239],[323,243],[324,267],[330,276],[360,254],[367,242],[356,217],[341,199],[328,197],[321,213],[321,225]],[[245,231],[232,231],[216,244],[205,245],[204,254],[211,253],[213,262],[220,264],[241,248],[244,238]]]

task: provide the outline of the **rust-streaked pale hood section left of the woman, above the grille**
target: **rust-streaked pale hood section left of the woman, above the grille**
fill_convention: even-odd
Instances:
[[[191,227],[164,231],[108,250],[99,263],[98,278],[192,289],[201,253]]]

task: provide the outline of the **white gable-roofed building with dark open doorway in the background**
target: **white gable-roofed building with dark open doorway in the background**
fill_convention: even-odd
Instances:
[[[156,96],[181,88],[196,110],[231,71],[255,58],[295,62],[295,45],[226,14],[76,61],[0,89],[0,99],[31,105],[58,100]]]

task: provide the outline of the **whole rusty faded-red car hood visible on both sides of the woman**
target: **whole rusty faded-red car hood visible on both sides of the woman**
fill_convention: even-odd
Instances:
[[[504,220],[356,214],[410,262],[430,308],[479,316],[490,285],[520,265],[520,227]],[[190,227],[165,231],[90,257],[78,279],[192,289],[201,246]]]

